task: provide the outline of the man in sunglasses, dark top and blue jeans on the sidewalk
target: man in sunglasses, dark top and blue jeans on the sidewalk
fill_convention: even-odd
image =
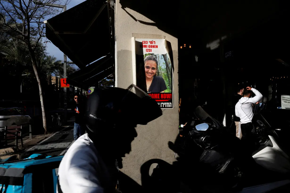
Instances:
[[[74,96],[75,100],[75,125],[73,128],[73,137],[75,140],[79,138],[79,136],[85,134],[85,128],[84,128],[84,106],[83,103],[81,102],[81,98],[78,94],[75,94]]]

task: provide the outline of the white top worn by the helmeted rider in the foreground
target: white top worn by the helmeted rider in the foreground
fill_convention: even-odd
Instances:
[[[111,173],[116,171],[115,163],[105,163],[86,133],[73,142],[60,162],[60,188],[63,193],[104,193],[106,187],[115,188],[117,180]]]

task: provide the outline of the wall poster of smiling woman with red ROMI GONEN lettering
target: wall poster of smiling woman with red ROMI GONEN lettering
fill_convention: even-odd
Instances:
[[[173,108],[172,64],[166,39],[132,38],[133,83],[156,100],[161,109]]]

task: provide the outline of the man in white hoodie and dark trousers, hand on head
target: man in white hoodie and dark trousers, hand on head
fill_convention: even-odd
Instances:
[[[255,94],[255,97],[250,98],[253,93]],[[235,115],[240,117],[242,139],[251,140],[251,130],[253,129],[252,119],[254,116],[253,104],[258,103],[263,95],[257,89],[251,87],[244,89],[243,94],[244,97],[242,97],[235,105]]]

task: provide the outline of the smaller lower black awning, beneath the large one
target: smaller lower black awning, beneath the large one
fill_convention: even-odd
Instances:
[[[98,85],[100,80],[113,74],[113,63],[111,56],[105,56],[93,64],[70,74],[67,78],[67,83],[80,88]]]

